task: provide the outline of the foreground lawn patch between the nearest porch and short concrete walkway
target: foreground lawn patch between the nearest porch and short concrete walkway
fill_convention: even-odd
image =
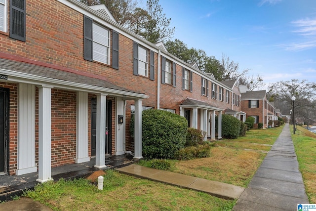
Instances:
[[[24,195],[55,211],[229,211],[236,203],[115,170],[107,170],[104,176],[103,191],[89,180],[76,179],[42,183]]]

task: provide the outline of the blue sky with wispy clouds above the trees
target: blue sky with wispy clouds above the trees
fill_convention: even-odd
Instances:
[[[159,0],[174,39],[266,84],[316,82],[316,0]]]

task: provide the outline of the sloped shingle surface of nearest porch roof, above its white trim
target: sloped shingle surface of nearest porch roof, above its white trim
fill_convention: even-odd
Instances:
[[[57,69],[53,69],[49,67],[43,67],[43,66],[39,66],[35,64],[13,61],[13,60],[2,59],[2,58],[0,58],[0,69],[11,70],[14,72],[40,76],[44,78],[58,79],[58,80],[67,81],[67,82],[87,84],[87,85],[93,85],[93,86],[99,86],[99,87],[104,87],[104,88],[110,88],[110,89],[116,89],[116,90],[141,94],[139,92],[131,91],[126,88],[120,87],[118,85],[111,84],[110,82],[105,81],[105,80],[84,76],[83,73],[80,73],[79,71],[78,71],[78,74],[76,74],[76,73],[57,70]]]

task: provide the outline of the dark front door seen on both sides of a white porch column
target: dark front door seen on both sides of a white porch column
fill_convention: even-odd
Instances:
[[[112,101],[106,105],[105,153],[112,154]],[[91,99],[91,156],[95,156],[97,128],[97,100]]]

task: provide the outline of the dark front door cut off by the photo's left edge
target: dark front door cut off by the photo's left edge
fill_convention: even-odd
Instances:
[[[0,87],[0,175],[6,173],[8,140],[9,89]]]

